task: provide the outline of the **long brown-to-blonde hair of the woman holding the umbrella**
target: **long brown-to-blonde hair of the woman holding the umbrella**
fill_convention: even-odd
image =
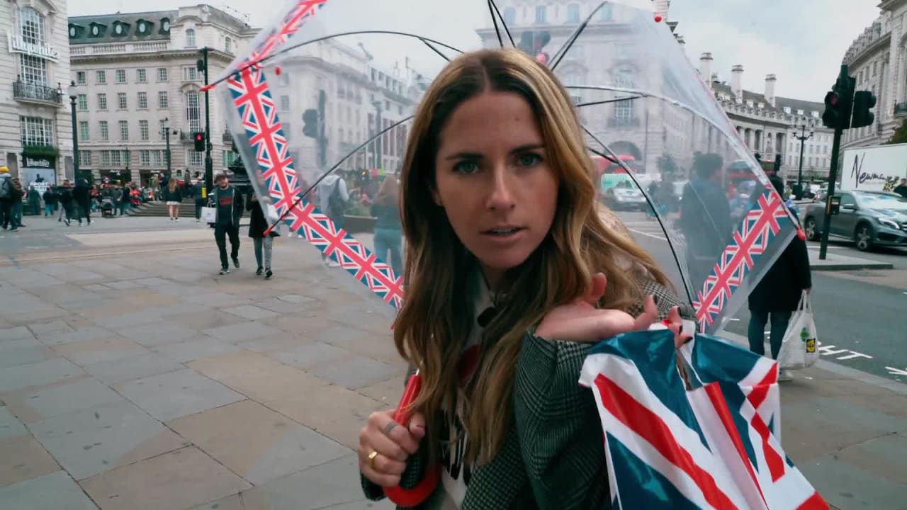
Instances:
[[[452,410],[457,368],[474,313],[469,275],[473,256],[432,199],[440,132],[462,103],[485,92],[517,93],[532,106],[546,153],[559,181],[551,231],[528,260],[502,278],[506,298],[484,330],[483,352],[468,387],[463,425],[468,458],[496,455],[512,427],[512,389],[523,335],[552,308],[589,291],[591,275],[604,272],[608,289],[600,306],[627,310],[642,299],[637,284],[648,275],[668,279],[623,228],[602,221],[592,162],[583,145],[570,97],[543,64],[516,50],[482,50],[448,64],[425,93],[414,116],[401,175],[400,211],[406,236],[406,299],[394,340],[401,356],[419,368],[423,389],[414,402],[427,421],[430,452],[440,449],[439,414]],[[579,374],[577,374],[579,377]]]

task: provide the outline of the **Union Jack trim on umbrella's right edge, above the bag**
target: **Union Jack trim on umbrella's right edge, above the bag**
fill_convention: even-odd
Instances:
[[[793,221],[785,203],[774,189],[768,188],[746,214],[703,283],[702,290],[697,292],[693,308],[696,309],[701,331],[706,331],[715,322],[727,301],[786,225],[793,226]]]

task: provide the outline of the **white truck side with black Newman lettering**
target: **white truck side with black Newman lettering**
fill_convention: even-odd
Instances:
[[[892,191],[907,178],[907,143],[844,151],[841,189]]]

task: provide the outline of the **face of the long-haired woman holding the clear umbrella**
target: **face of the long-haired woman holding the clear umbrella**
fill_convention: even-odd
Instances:
[[[457,107],[440,135],[434,201],[496,285],[551,230],[558,180],[532,108],[516,93]]]

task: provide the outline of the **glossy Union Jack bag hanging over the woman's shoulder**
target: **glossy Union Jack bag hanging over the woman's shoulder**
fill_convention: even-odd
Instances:
[[[774,360],[666,329],[601,342],[580,384],[595,396],[614,508],[827,510],[781,446]]]

